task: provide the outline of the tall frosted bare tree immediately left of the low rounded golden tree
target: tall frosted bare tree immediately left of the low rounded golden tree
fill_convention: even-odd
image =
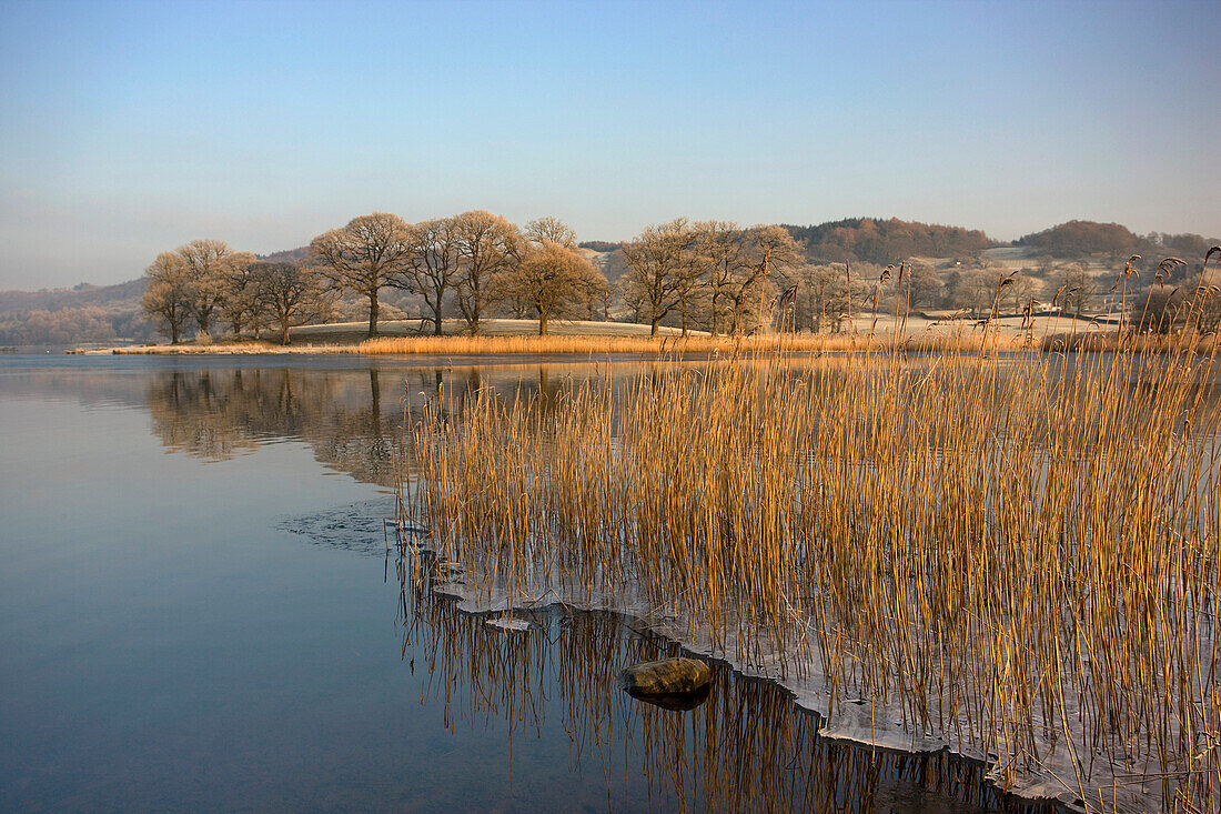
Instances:
[[[458,254],[455,282],[458,309],[471,334],[479,334],[484,312],[497,299],[495,280],[520,254],[516,226],[490,211],[466,211],[453,218]]]

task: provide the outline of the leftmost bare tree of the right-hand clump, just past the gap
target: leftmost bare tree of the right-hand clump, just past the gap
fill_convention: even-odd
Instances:
[[[628,271],[623,286],[628,296],[643,304],[650,335],[674,308],[684,302],[690,255],[697,235],[686,218],[650,226],[623,247]]]

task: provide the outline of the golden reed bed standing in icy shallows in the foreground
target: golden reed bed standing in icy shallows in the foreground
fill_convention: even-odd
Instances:
[[[442,396],[404,516],[469,599],[629,609],[846,737],[1090,810],[1216,810],[1215,348],[744,357]]]

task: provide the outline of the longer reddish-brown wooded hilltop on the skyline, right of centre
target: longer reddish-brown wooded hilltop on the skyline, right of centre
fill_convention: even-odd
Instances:
[[[910,257],[967,258],[998,246],[978,229],[908,220],[846,218],[817,226],[783,224],[813,263],[896,263]]]

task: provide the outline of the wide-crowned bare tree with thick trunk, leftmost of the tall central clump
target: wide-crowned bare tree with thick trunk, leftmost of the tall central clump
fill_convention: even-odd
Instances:
[[[375,211],[310,241],[319,273],[333,287],[369,299],[369,336],[377,336],[377,296],[403,286],[414,246],[411,227],[398,215]]]

